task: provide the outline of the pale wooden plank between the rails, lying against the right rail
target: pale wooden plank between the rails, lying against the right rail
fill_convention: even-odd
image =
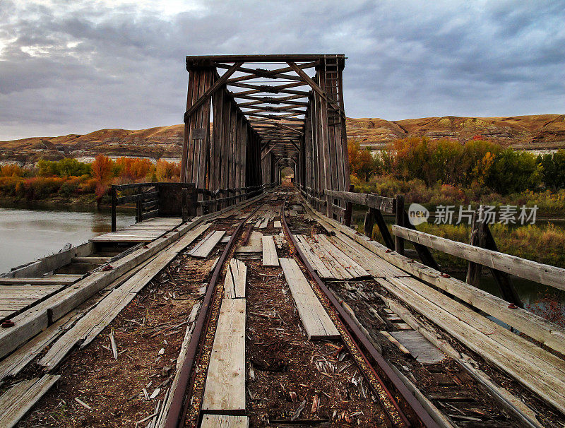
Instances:
[[[335,328],[330,316],[323,309],[296,261],[293,258],[281,258],[280,267],[283,268],[285,273],[292,298],[295,299],[298,314],[308,338],[311,340],[339,338],[338,329]]]

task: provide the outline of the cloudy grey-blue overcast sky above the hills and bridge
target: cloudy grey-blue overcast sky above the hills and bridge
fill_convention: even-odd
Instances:
[[[343,53],[349,117],[565,112],[565,1],[0,0],[0,141],[182,122],[194,54]]]

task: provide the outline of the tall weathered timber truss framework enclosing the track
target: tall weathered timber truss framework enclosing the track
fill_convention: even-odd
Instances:
[[[344,66],[343,54],[186,57],[182,182],[239,191],[290,167],[320,209],[341,216],[321,195],[349,189]]]

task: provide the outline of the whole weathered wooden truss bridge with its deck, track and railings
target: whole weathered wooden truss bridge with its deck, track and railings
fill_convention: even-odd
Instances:
[[[0,275],[0,427],[564,426],[565,328],[511,275],[565,270],[350,189],[344,61],[187,57],[182,182],[112,186],[111,232]]]

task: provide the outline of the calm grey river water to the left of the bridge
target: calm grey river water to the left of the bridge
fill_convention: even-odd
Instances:
[[[118,212],[118,228],[133,222],[133,211]],[[67,242],[76,246],[109,231],[109,209],[3,204],[0,207],[0,273],[56,253]]]

